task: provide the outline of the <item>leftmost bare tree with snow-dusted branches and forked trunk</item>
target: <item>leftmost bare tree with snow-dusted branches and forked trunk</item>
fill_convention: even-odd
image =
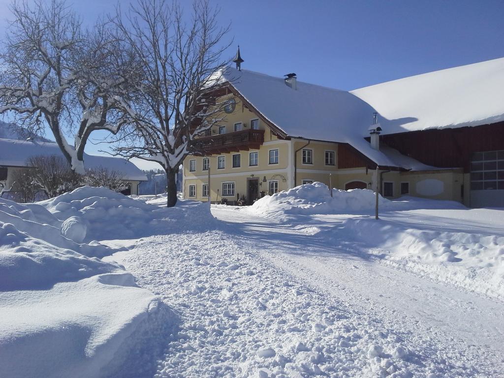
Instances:
[[[40,133],[45,121],[72,169],[84,174],[91,132],[120,128],[114,99],[127,93],[129,76],[117,75],[118,67],[128,70],[128,59],[117,57],[127,55],[114,50],[119,44],[103,24],[83,32],[65,0],[14,2],[11,10],[14,21],[0,54],[0,114],[15,113],[29,132]],[[74,130],[71,145],[65,132]]]

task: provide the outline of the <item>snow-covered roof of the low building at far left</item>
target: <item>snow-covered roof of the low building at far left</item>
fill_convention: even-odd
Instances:
[[[63,156],[56,143],[0,139],[0,165],[26,167],[26,161],[36,155]],[[103,167],[121,173],[128,180],[147,180],[145,173],[131,161],[112,156],[96,156],[85,153],[84,167]]]

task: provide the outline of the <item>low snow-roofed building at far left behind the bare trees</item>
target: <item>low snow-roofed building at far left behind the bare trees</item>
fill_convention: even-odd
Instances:
[[[29,167],[27,160],[39,155],[63,157],[56,143],[0,139],[0,192],[15,191],[14,173]],[[84,154],[84,167],[105,168],[119,173],[128,186],[123,192],[126,195],[138,194],[140,182],[147,180],[147,176],[135,164],[121,158]]]

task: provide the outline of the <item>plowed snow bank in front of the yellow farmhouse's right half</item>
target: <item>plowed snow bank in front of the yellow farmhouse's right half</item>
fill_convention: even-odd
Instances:
[[[374,192],[368,189],[349,191],[333,189],[331,197],[326,184],[313,182],[261,198],[248,211],[284,223],[295,220],[296,216],[312,214],[374,214],[375,201]],[[463,207],[451,201],[432,201],[413,197],[390,201],[379,196],[380,211],[443,208],[447,205],[450,208]]]

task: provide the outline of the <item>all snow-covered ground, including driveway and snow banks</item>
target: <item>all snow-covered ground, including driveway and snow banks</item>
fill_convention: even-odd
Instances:
[[[504,210],[165,201],[0,202],[0,376],[502,376]]]

